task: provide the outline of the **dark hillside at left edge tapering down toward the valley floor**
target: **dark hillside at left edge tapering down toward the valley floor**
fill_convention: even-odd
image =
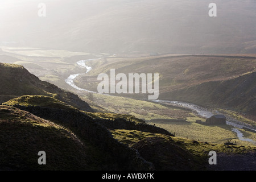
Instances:
[[[93,112],[76,94],[39,80],[21,65],[0,63],[0,82],[0,102],[23,95],[41,95],[53,97],[80,110]]]

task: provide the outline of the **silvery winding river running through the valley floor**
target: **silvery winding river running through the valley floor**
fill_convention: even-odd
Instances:
[[[92,61],[92,60],[99,60],[101,58],[97,58],[97,59],[88,59],[88,60],[80,60],[80,61],[77,61],[77,65],[79,65],[80,68],[82,69],[86,69],[86,72],[85,73],[88,73],[89,71],[92,70],[92,67],[86,65],[86,62],[87,61]],[[74,80],[77,76],[79,75],[82,75],[84,73],[77,73],[77,74],[73,74],[73,75],[70,75],[66,80],[65,82],[67,82],[68,85],[72,86],[73,88],[77,89],[77,90],[80,90],[80,91],[85,91],[85,92],[92,92],[92,93],[96,93],[96,92],[93,92],[93,91],[90,91],[90,90],[86,90],[86,89],[82,89],[82,88],[79,88],[78,86],[76,86],[76,84],[74,83]],[[177,106],[183,106],[183,107],[186,107],[188,109],[192,109],[193,111],[196,111],[197,114],[201,115],[202,117],[205,117],[205,118],[210,118],[212,117],[213,112],[212,111],[209,111],[208,109],[204,108],[204,107],[201,107],[201,106],[197,106],[195,104],[191,104],[191,103],[188,103],[188,102],[180,102],[180,101],[168,101],[168,100],[155,100],[155,102],[159,102],[159,103],[163,103],[163,104],[173,104],[173,105],[177,105]],[[217,111],[216,111],[217,112]],[[246,125],[245,123],[242,123],[240,121],[237,121],[236,119],[234,118],[231,118],[231,117],[228,117],[227,120],[226,120],[226,125],[231,125],[231,126],[234,126],[234,128],[232,129],[233,132],[237,133],[237,137],[240,139],[240,140],[243,140],[243,141],[247,141],[247,142],[251,142],[253,144],[256,144],[256,141],[255,140],[252,140],[252,139],[249,139],[249,138],[245,138],[243,137],[243,134],[241,133],[240,130],[238,129],[243,129],[243,128],[246,128],[246,129],[250,129],[250,130],[254,130],[256,131],[256,129],[253,129],[251,128],[249,125]]]

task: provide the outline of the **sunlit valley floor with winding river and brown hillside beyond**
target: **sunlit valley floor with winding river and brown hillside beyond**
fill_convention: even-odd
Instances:
[[[22,52],[19,53],[19,51]],[[255,65],[253,55],[141,55],[138,57],[138,55],[80,53],[80,55],[74,56],[75,53],[67,52],[66,57],[58,58],[56,57],[57,52],[64,51],[52,53],[53,51],[45,50],[42,52],[44,52],[44,59],[48,59],[48,61],[31,61],[33,52],[34,49],[27,49],[25,54],[23,50],[15,49],[15,55],[14,52],[11,51],[6,51],[5,55],[13,56],[13,59],[21,56],[20,58],[22,58],[23,61],[27,61],[30,64],[27,64],[27,62],[18,62],[18,64],[23,64],[25,68],[35,75],[40,71],[40,75],[37,76],[44,81],[51,82],[52,84],[56,84],[64,89],[79,94],[79,96],[84,101],[88,102],[93,109],[96,109],[96,111],[133,115],[134,117],[143,119],[150,125],[163,127],[172,133],[175,132],[177,136],[183,138],[214,143],[223,143],[226,139],[230,138],[236,139],[241,142],[241,144],[254,145],[256,138],[255,133],[246,130],[244,126],[243,128],[234,126],[236,130],[233,130],[233,127],[231,127],[229,123],[229,126],[227,126],[225,130],[221,131],[222,129],[217,127],[218,130],[213,131],[210,127],[200,126],[196,123],[197,120],[204,121],[206,118],[213,115],[210,111],[212,110],[214,113],[225,114],[226,117],[229,118],[227,119],[227,123],[230,121],[232,121],[232,123],[242,122],[243,125],[249,126],[249,129],[255,130],[254,116],[250,111],[249,113],[244,113],[244,110],[239,112],[236,107],[230,108],[226,107],[226,105],[216,105],[214,104],[215,101],[210,102],[211,98],[204,98],[210,94],[204,93],[204,90],[203,92],[195,92],[201,95],[198,100],[193,100],[194,97],[187,97],[191,95],[191,93],[183,94],[183,98],[180,98],[180,96],[170,97],[170,94],[177,92],[176,90],[181,90],[182,93],[184,92],[183,90],[193,88],[193,86],[207,85],[207,83],[215,81],[229,81],[253,73],[255,70],[255,66],[253,66]],[[38,50],[36,50],[36,52],[38,52]],[[41,57],[41,59],[43,60],[43,57]],[[47,68],[47,64],[45,63],[50,63],[50,60],[59,60],[59,63],[55,63],[54,67],[51,65],[51,67]],[[156,63],[154,63],[155,61]],[[193,64],[188,64],[188,61],[192,61]],[[12,63],[13,61],[10,62]],[[31,67],[31,64],[40,65],[40,69],[38,67]],[[154,68],[151,67],[151,64],[154,64]],[[168,64],[170,64],[170,66],[168,66]],[[185,64],[188,66],[185,67]],[[167,102],[147,101],[145,94],[98,94],[97,85],[99,81],[97,81],[97,75],[100,73],[110,73],[110,68],[115,68],[117,73],[127,74],[130,73],[129,70],[131,73],[157,72],[160,75],[160,100],[168,100],[168,102],[195,101],[193,102],[194,105],[205,107],[205,109],[208,108],[207,110],[210,112],[208,112],[208,115],[204,115],[205,113],[198,113],[198,110],[196,111],[191,107],[184,107],[177,103],[174,105],[174,103],[167,104]],[[44,70],[45,73],[43,73],[42,70]],[[52,78],[56,78],[56,81]],[[169,81],[167,82],[167,80]],[[248,103],[246,102],[246,104]],[[252,108],[247,110],[255,110],[254,105],[251,107]],[[154,120],[157,119],[163,120],[155,122]],[[170,121],[168,121],[168,119],[170,119]],[[186,119],[188,123],[184,125],[184,123],[171,121],[172,119]],[[205,136],[208,135],[207,133],[215,131],[216,135],[211,135],[210,138]],[[187,135],[188,133],[189,135]],[[237,135],[238,133],[240,136],[241,134],[246,137],[249,136],[252,142],[241,140],[241,137]]]

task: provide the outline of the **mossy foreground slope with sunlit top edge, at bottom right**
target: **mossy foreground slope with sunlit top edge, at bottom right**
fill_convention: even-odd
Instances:
[[[256,151],[255,146],[226,146],[136,130],[112,130],[112,134],[120,142],[136,148],[158,170],[205,170],[210,151],[217,154]]]

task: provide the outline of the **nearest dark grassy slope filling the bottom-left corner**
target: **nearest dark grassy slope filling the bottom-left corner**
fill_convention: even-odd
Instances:
[[[72,131],[27,111],[0,106],[0,126],[3,170],[85,170],[97,163]],[[46,152],[47,165],[38,164],[39,151]]]

